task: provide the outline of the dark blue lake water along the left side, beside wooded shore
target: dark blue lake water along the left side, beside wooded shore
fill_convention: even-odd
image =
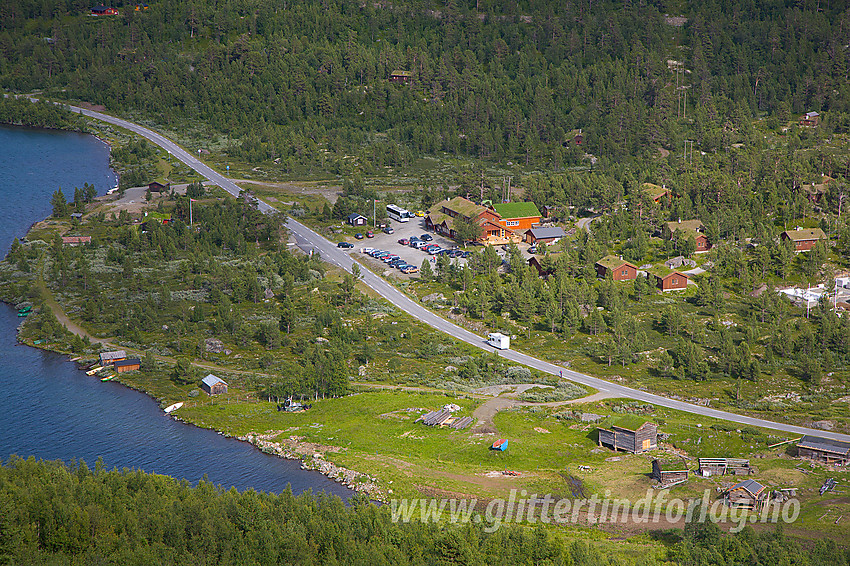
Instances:
[[[116,184],[109,148],[87,135],[0,126],[0,250],[8,251],[33,222],[51,212],[61,187]],[[300,462],[166,417],[153,399],[118,383],[101,383],[66,356],[19,346],[16,312],[0,304],[0,459],[102,457],[108,468],[137,468],[215,484],[296,493],[313,489],[347,498],[353,492]]]

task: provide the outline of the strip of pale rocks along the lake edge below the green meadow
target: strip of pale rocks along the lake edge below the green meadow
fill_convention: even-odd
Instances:
[[[265,454],[272,454],[288,460],[301,460],[302,470],[319,472],[349,489],[367,495],[370,499],[386,501],[387,494],[392,495],[392,490],[385,492],[383,488],[378,486],[378,478],[338,466],[325,459],[326,452],[340,452],[344,449],[304,442],[303,436],[293,435],[278,438],[285,432],[287,431],[272,430],[265,434],[248,433],[245,436],[237,437],[237,440],[250,442]]]

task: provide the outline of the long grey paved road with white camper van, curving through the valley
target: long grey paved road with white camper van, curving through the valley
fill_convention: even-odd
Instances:
[[[70,108],[75,112],[81,112],[85,116],[96,118],[98,120],[114,124],[116,126],[121,126],[122,128],[126,128],[132,132],[139,134],[140,136],[147,138],[149,141],[169,151],[180,161],[182,161],[189,167],[192,167],[195,171],[212,181],[214,184],[220,186],[228,193],[234,196],[239,195],[241,189],[236,185],[236,183],[223,176],[219,172],[215,171],[214,169],[208,167],[202,161],[198,160],[194,155],[184,150],[171,140],[165,138],[164,136],[143,126],[139,126],[138,124],[134,124],[132,122],[128,122],[120,118],[115,118],[114,116],[109,116],[108,114],[102,114],[100,112],[94,112],[75,106],[71,106]],[[259,206],[259,209],[264,213],[276,212],[276,209],[274,207],[262,201],[258,201],[257,204]],[[320,253],[323,260],[338,267],[341,267],[346,271],[351,271],[351,268],[355,262],[348,252],[337,248],[336,244],[329,242],[327,239],[320,236],[308,227],[304,226],[300,222],[297,222],[290,218],[287,220],[286,224],[287,228],[289,228],[289,230],[292,232],[299,248],[308,253],[309,250],[312,249],[314,252]],[[549,362],[539,360],[527,354],[523,354],[522,352],[517,352],[516,350],[495,350],[494,348],[488,346],[481,336],[473,334],[472,332],[461,328],[440,316],[437,316],[419,303],[410,299],[410,297],[393,287],[390,283],[388,283],[378,275],[375,275],[371,271],[363,268],[361,268],[361,273],[363,274],[362,280],[366,285],[374,289],[382,297],[384,297],[389,302],[391,302],[407,314],[411,315],[412,317],[421,320],[425,324],[432,326],[433,328],[436,328],[437,330],[444,332],[449,336],[457,338],[458,340],[463,340],[464,342],[471,344],[477,348],[481,348],[482,350],[486,350],[488,352],[496,351],[500,356],[512,362],[524,364],[529,367],[533,367],[535,369],[543,371],[545,373],[549,373],[551,375],[561,375],[564,378],[569,379],[570,381],[574,381],[582,385],[587,385],[593,387],[594,389],[599,389],[601,391],[608,391],[618,397],[635,399],[637,401],[643,401],[645,403],[651,403],[653,405],[659,405],[661,407],[667,407],[670,409],[676,409],[687,413],[712,417],[715,419],[721,419],[724,421],[734,422],[746,426],[759,426],[786,432],[789,434],[812,434],[824,438],[831,438],[834,440],[850,442],[850,435],[825,430],[815,430],[786,423],[778,423],[764,419],[748,417],[745,415],[729,413],[727,411],[720,411],[718,409],[712,409],[709,407],[700,407],[691,403],[676,401],[674,399],[667,399],[666,397],[661,397],[660,395],[653,395],[652,393],[632,389],[630,387],[625,387],[616,383],[604,381],[602,379],[572,371],[570,369],[565,369],[561,366],[556,366],[555,364],[551,364]],[[683,386],[683,389],[685,387],[686,386]]]

